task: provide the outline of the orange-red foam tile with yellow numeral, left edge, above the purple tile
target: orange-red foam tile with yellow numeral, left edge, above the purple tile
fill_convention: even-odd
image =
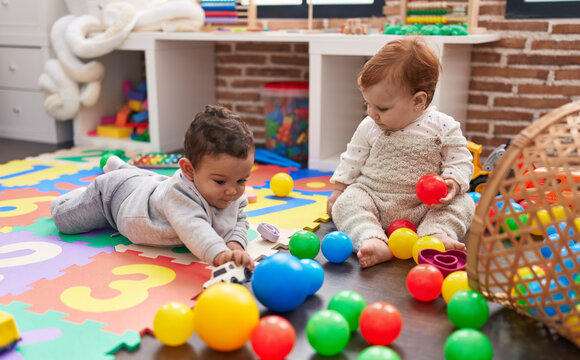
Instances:
[[[60,193],[34,188],[0,191],[0,227],[27,226],[34,220],[50,216],[50,202]]]

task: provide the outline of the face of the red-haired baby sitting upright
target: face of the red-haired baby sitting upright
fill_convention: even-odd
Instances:
[[[411,95],[388,79],[362,91],[368,116],[384,131],[400,130],[417,120],[424,109],[419,94],[425,93]]]

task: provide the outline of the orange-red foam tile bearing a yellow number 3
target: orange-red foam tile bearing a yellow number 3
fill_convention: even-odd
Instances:
[[[18,296],[0,297],[0,303],[19,301],[42,314],[55,310],[63,320],[81,324],[105,323],[102,330],[115,334],[145,332],[152,328],[157,310],[168,299],[193,306],[211,276],[205,264],[182,265],[172,259],[149,259],[134,251],[100,253],[84,266],[73,265],[53,280],[40,280]]]

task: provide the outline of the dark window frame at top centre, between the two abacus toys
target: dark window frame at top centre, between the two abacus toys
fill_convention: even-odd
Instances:
[[[314,5],[312,16],[315,19],[382,17],[385,0],[374,0],[367,5]],[[258,19],[306,19],[308,3],[302,0],[301,5],[258,5]]]

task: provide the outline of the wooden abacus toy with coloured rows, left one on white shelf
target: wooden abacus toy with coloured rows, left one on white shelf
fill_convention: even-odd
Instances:
[[[258,9],[254,0],[200,0],[205,28],[257,29]]]

